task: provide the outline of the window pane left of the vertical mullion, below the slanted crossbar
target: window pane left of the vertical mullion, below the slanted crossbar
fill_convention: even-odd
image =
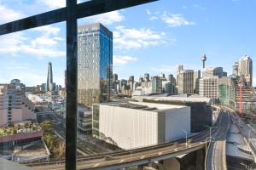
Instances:
[[[0,157],[17,163],[63,160],[66,25],[1,36],[0,49]]]

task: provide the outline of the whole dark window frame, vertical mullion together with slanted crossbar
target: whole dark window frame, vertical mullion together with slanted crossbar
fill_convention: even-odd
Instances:
[[[103,14],[159,0],[90,0],[77,3],[66,0],[65,8],[15,20],[0,25],[0,36],[66,21],[67,30],[67,108],[66,108],[66,169],[75,170],[77,161],[77,96],[78,96],[78,24],[80,18]]]

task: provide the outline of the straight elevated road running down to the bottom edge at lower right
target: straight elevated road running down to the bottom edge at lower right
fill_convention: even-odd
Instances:
[[[205,167],[207,170],[225,170],[226,165],[226,138],[231,125],[230,114],[221,112],[219,115],[218,131],[212,135],[207,149]]]

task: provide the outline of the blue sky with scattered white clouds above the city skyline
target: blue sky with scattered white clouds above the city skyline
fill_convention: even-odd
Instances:
[[[65,6],[65,0],[0,0],[0,24]],[[113,72],[119,78],[145,72],[176,74],[177,65],[201,69],[223,66],[248,54],[256,60],[256,11],[253,0],[160,0],[79,20],[102,22],[113,31]],[[0,37],[0,83],[19,78],[27,86],[46,82],[53,63],[54,82],[64,84],[65,22]],[[253,69],[256,85],[256,70]]]

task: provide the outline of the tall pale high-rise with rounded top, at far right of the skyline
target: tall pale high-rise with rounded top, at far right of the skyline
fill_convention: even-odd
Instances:
[[[244,79],[247,86],[253,85],[253,60],[248,55],[239,59],[238,76]]]

